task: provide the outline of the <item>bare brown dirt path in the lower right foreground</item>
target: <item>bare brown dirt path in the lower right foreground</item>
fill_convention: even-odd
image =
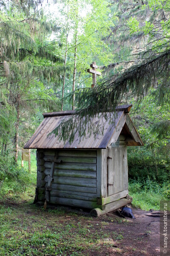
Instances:
[[[149,212],[143,211],[141,209],[132,210],[136,219],[126,218],[128,221],[127,223],[114,223],[113,225],[106,227],[110,230],[119,230],[120,233],[122,233],[123,239],[117,241],[119,244],[119,249],[121,250],[121,255],[159,255],[160,218],[147,216],[146,214]],[[109,213],[107,216],[119,218],[117,217],[116,213]],[[118,222],[121,220],[122,219],[119,218]]]

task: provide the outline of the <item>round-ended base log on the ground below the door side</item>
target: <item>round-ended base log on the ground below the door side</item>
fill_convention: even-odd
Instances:
[[[101,210],[99,207],[96,209],[91,210],[91,215],[98,217],[100,215],[103,215],[107,212],[111,212],[114,211],[116,209],[119,209],[120,207],[123,207],[127,204],[130,204],[132,202],[132,198],[130,198],[129,200],[127,200],[126,198],[122,198],[118,201],[114,201],[110,204],[105,204],[105,209]]]

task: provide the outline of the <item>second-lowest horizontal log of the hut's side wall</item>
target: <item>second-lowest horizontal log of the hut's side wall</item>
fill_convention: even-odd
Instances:
[[[72,199],[78,199],[78,200],[83,200],[83,201],[97,201],[96,197],[88,197],[85,195],[74,195],[74,194],[70,194],[67,192],[58,192],[56,190],[52,190],[51,191],[51,196],[54,197],[59,197],[59,198],[72,198]]]

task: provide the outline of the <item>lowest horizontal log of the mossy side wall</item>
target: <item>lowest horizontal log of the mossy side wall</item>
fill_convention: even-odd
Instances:
[[[96,202],[93,202],[93,201],[84,201],[84,200],[77,200],[77,199],[71,199],[71,198],[59,198],[59,197],[52,197],[52,196],[51,196],[51,203],[69,205],[69,206],[80,207],[80,208],[89,208],[89,209],[94,209],[96,207],[99,207],[101,209],[105,208],[105,206],[98,205],[96,204]]]

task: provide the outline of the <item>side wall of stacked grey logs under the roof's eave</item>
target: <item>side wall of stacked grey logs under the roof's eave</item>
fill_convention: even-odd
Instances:
[[[76,207],[95,208],[97,205],[97,151],[96,150],[43,150],[37,160],[43,163],[41,175],[37,175],[39,200],[43,200],[51,170],[51,160],[57,151],[54,182],[51,185],[51,203]],[[39,152],[39,151],[38,151]],[[41,160],[40,160],[41,156]],[[43,158],[42,158],[43,157]],[[40,167],[37,166],[39,169]],[[43,171],[42,171],[43,169]],[[43,179],[43,180],[42,180]],[[40,181],[41,180],[41,181]]]

